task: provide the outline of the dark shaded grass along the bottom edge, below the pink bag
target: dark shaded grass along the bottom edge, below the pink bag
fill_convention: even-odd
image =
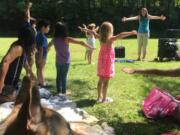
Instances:
[[[116,135],[160,135],[174,131],[180,127],[174,119],[166,118],[161,120],[147,120],[145,123],[128,122],[122,123],[112,121],[109,123],[115,128]]]

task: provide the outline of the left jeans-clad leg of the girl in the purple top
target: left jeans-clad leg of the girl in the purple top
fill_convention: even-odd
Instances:
[[[56,88],[57,92],[62,90],[62,80],[61,80],[61,67],[56,63]]]

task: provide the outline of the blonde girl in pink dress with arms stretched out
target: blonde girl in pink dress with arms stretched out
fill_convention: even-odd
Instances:
[[[114,60],[115,53],[113,42],[125,38],[130,35],[136,35],[136,31],[122,32],[118,35],[113,36],[113,25],[110,22],[103,22],[100,26],[99,33],[96,33],[87,28],[79,27],[83,32],[90,32],[95,35],[96,38],[100,40],[100,51],[98,57],[98,68],[97,75],[99,76],[99,81],[97,85],[98,97],[97,102],[109,103],[113,100],[107,97],[107,89],[109,80],[115,75]]]

